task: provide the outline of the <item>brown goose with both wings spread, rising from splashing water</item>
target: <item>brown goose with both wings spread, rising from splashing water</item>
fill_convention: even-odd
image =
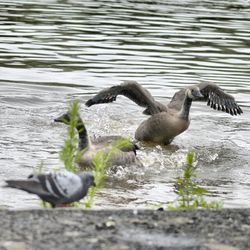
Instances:
[[[156,101],[150,92],[138,82],[129,80],[101,90],[85,105],[90,107],[95,104],[114,102],[118,95],[123,95],[146,108],[143,114],[150,117],[136,129],[135,139],[156,144],[170,144],[176,136],[188,129],[189,111],[193,101],[207,101],[207,105],[211,108],[230,115],[243,113],[233,96],[208,81],[202,81],[177,91],[171,101],[164,105]]]

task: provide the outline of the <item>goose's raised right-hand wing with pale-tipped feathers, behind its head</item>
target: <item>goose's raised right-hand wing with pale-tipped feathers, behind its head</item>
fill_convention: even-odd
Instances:
[[[225,93],[219,86],[210,82],[202,82],[196,85],[207,105],[213,109],[221,110],[230,115],[240,115],[243,113],[233,96]]]

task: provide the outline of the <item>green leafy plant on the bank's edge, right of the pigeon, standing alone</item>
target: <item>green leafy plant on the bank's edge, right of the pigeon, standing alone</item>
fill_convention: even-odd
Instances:
[[[204,195],[208,195],[211,192],[200,187],[195,180],[196,169],[193,165],[194,157],[194,152],[187,154],[183,175],[177,177],[175,182],[175,193],[178,195],[178,198],[168,206],[170,210],[220,208],[223,206],[221,202],[208,202],[204,198]]]

